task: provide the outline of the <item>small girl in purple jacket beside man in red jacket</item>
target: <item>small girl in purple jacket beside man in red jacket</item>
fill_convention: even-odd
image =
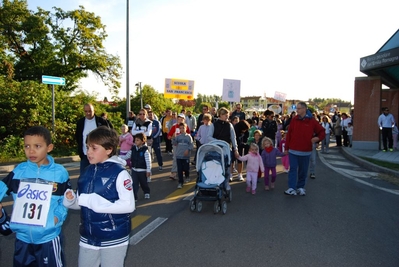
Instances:
[[[270,188],[274,188],[274,183],[276,182],[276,166],[277,157],[283,157],[285,154],[280,152],[277,148],[273,147],[273,141],[269,137],[265,137],[262,140],[262,145],[264,147],[261,157],[263,161],[263,166],[265,167],[265,190],[269,191]],[[269,175],[272,173],[272,182],[269,187]]]

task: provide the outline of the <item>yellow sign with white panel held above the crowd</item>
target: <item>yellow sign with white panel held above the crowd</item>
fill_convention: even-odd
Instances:
[[[194,81],[182,79],[165,79],[165,98],[194,99]]]

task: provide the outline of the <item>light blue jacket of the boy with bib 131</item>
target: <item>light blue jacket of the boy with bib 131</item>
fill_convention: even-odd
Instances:
[[[29,160],[23,162],[0,181],[0,201],[6,195],[12,195],[15,201],[19,184],[25,179],[53,183],[45,227],[10,223],[10,228],[16,233],[17,239],[29,244],[43,244],[56,238],[67,217],[68,209],[63,205],[63,198],[64,192],[71,188],[68,171],[62,165],[55,163],[50,155],[47,155],[47,159],[49,164],[40,167]],[[58,219],[57,224],[54,224],[54,217]]]

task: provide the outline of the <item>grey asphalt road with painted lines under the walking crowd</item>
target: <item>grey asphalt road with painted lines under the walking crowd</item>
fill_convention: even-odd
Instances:
[[[339,172],[356,171],[352,164],[318,158],[304,197],[283,194],[287,174],[280,165],[273,191],[259,183],[253,196],[245,182],[234,181],[233,200],[221,215],[213,214],[212,202],[204,202],[201,213],[189,210],[194,182],[177,190],[168,178],[170,157],[163,155],[151,199],[141,192],[137,202],[126,266],[399,266],[399,195],[392,193],[399,188],[378,181],[391,191],[380,190]],[[343,158],[334,149],[329,156]],[[77,164],[66,167],[75,183]],[[77,266],[78,224],[79,212],[71,211],[63,229],[67,266]],[[1,266],[12,266],[13,242],[0,237]]]

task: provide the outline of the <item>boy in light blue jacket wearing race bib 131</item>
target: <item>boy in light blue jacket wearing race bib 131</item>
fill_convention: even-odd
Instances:
[[[71,188],[69,174],[47,154],[53,144],[46,128],[28,129],[24,150],[28,160],[0,181],[0,201],[10,194],[14,199],[9,223],[16,233],[13,266],[64,266],[61,227],[67,208],[62,202]],[[3,212],[2,218],[7,218]]]

